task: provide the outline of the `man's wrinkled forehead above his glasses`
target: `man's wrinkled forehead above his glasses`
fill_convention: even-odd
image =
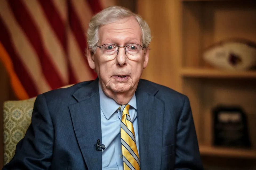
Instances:
[[[142,43],[142,30],[134,17],[127,17],[110,24],[101,25],[98,33],[100,43],[118,43],[118,41]]]

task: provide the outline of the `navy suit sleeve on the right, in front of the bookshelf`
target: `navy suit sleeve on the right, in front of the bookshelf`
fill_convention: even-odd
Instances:
[[[202,170],[189,99],[185,97],[177,125],[175,170]]]

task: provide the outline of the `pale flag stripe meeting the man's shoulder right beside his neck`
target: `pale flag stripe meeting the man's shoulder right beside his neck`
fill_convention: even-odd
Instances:
[[[91,74],[91,70],[89,67],[85,65],[84,54],[81,54],[80,49],[78,47],[77,41],[74,37],[73,32],[68,31],[68,56],[70,59],[71,67],[74,71],[74,76],[78,80],[78,82],[92,80],[93,76]]]

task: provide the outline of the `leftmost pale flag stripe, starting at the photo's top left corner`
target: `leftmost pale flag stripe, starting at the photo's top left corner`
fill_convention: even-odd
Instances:
[[[38,93],[49,91],[51,88],[42,73],[42,68],[37,53],[17,23],[6,0],[0,1],[0,10],[0,15],[11,34],[11,41],[14,44],[14,48],[17,49],[17,52],[21,57],[21,62],[28,70],[27,72],[30,74],[32,80],[34,81],[36,85],[35,88],[37,89]],[[27,56],[29,56],[29,59]]]

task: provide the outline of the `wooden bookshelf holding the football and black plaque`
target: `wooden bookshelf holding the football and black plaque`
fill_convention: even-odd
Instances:
[[[251,160],[250,169],[255,169],[256,70],[217,69],[205,62],[202,54],[213,43],[229,38],[244,38],[256,42],[256,22],[251,22],[256,21],[256,2],[180,2],[182,32],[179,35],[182,42],[178,60],[178,90],[189,97],[200,154],[204,158],[233,159],[237,163],[237,169],[243,169],[245,159]],[[213,146],[212,109],[219,104],[240,106],[245,111],[251,149]],[[203,164],[209,166],[209,162]],[[214,159],[210,162],[210,167],[227,168],[225,163],[215,162]]]

